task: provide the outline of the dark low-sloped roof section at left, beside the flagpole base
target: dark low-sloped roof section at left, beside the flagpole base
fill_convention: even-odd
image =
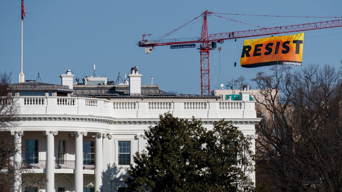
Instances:
[[[66,85],[56,85],[50,83],[41,83],[35,81],[28,81],[23,83],[13,83],[9,85],[13,91],[67,91],[73,92]]]

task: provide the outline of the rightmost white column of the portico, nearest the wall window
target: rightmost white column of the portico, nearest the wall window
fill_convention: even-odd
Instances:
[[[93,134],[93,137],[95,137],[95,192],[102,192],[103,136],[106,136],[106,134]]]

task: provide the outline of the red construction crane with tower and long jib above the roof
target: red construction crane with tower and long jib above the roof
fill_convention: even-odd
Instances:
[[[280,34],[280,33],[308,31],[308,30],[325,29],[325,28],[342,26],[342,20],[331,20],[331,21],[326,21],[326,22],[306,23],[306,24],[300,24],[300,25],[289,25],[289,26],[271,27],[271,28],[260,28],[260,29],[246,30],[246,31],[232,31],[232,32],[226,32],[226,33],[215,33],[215,34],[208,35],[208,25],[207,25],[208,14],[218,16],[213,12],[205,11],[201,15],[193,19],[195,20],[200,16],[203,17],[201,37],[162,40],[162,38],[170,35],[174,31],[186,26],[187,24],[193,21],[193,20],[190,20],[186,24],[174,29],[173,31],[165,34],[164,36],[160,37],[157,40],[146,40],[144,37],[147,35],[144,34],[143,40],[136,42],[138,46],[145,47],[145,53],[152,53],[154,46],[199,43],[199,46],[197,46],[197,49],[200,50],[200,59],[201,59],[201,94],[202,95],[210,95],[209,50],[215,49],[216,43],[223,43],[223,40],[225,39],[256,37],[256,36],[274,35],[274,34]],[[218,16],[218,17],[221,17],[221,16]],[[151,35],[151,34],[148,34],[148,35]]]

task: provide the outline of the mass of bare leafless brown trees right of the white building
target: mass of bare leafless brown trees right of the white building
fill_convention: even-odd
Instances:
[[[252,79],[257,125],[257,189],[342,191],[340,69],[274,66]]]

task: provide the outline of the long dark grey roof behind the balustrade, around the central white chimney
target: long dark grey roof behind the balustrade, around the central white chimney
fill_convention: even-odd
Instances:
[[[141,85],[140,96],[129,95],[129,85],[74,85],[73,97],[96,98],[179,98],[179,99],[216,99],[221,96],[188,95],[168,93],[159,89],[158,85]]]

